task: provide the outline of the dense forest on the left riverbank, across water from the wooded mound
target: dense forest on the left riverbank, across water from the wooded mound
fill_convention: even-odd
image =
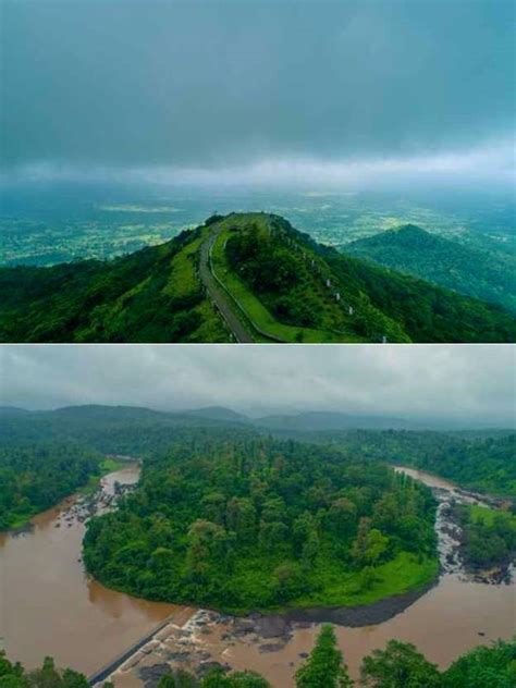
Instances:
[[[102,455],[75,441],[0,444],[0,530],[23,526],[101,472]]]

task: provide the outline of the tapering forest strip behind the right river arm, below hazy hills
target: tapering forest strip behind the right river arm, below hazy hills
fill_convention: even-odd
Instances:
[[[516,434],[469,438],[430,431],[354,430],[309,437],[364,457],[428,470],[479,492],[516,496]]]

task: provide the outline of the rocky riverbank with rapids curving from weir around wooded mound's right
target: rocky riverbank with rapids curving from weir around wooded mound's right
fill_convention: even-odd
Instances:
[[[253,667],[265,674],[270,669],[274,686],[292,686],[292,676],[311,649],[320,623],[335,624],[342,629],[339,634],[354,632],[351,629],[358,631],[360,627],[367,627],[365,632],[370,632],[395,618],[402,619],[400,627],[403,627],[405,615],[410,614],[409,607],[417,606],[414,603],[434,586],[438,589],[438,583],[453,580],[455,583],[449,585],[460,585],[464,581],[467,587],[468,582],[477,581],[477,577],[468,574],[460,556],[460,532],[451,518],[450,508],[454,503],[499,504],[496,500],[454,486],[430,487],[439,503],[435,532],[441,564],[440,578],[431,585],[360,606],[256,613],[244,617],[198,610],[183,626],[167,624],[120,665],[110,677],[115,688],[156,688],[160,677],[171,671],[184,669],[202,676],[214,665],[226,671]],[[497,579],[484,578],[482,582],[496,583]],[[479,634],[483,636],[483,629]]]

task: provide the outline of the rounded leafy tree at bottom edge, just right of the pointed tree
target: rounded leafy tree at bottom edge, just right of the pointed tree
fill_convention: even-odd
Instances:
[[[385,650],[373,650],[360,668],[364,686],[374,688],[442,688],[441,675],[409,642],[390,640]]]

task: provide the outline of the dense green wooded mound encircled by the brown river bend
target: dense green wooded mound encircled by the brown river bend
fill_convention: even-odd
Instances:
[[[88,523],[84,560],[139,597],[245,612],[371,602],[438,570],[435,503],[379,462],[235,431],[192,432]]]

